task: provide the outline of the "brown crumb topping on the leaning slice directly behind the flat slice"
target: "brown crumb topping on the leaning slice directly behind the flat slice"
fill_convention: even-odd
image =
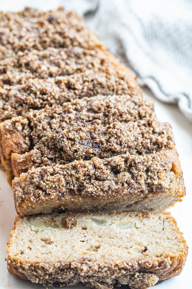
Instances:
[[[75,196],[100,197],[159,194],[174,190],[173,169],[178,162],[176,151],[148,155],[118,155],[92,158],[66,165],[32,168],[15,178],[12,187],[17,205],[23,203],[73,201]]]

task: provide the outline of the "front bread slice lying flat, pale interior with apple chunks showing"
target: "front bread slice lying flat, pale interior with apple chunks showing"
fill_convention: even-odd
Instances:
[[[16,217],[7,268],[46,287],[145,289],[183,269],[188,247],[170,213]]]

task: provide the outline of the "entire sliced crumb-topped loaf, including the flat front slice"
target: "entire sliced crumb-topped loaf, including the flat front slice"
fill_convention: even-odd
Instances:
[[[9,272],[96,289],[178,275],[188,247],[162,210],[185,186],[153,101],[75,12],[1,12],[0,35],[0,155],[18,214]]]

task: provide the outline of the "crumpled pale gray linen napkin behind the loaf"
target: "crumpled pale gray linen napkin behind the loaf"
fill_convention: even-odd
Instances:
[[[24,5],[48,10],[63,5],[83,13],[104,45],[138,75],[141,86],[147,85],[161,101],[178,103],[192,121],[191,0],[7,2],[0,4],[2,10],[17,11]]]

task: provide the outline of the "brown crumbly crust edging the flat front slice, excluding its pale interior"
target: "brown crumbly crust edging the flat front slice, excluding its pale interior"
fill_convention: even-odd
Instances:
[[[10,273],[20,279],[28,279],[34,283],[41,283],[46,287],[71,286],[83,283],[83,285],[96,289],[112,289],[119,285],[129,285],[131,289],[146,289],[149,286],[160,283],[163,280],[177,276],[182,271],[187,257],[188,247],[179,231],[176,221],[170,213],[159,212],[166,215],[166,219],[172,223],[172,230],[180,235],[183,245],[181,252],[174,255],[167,253],[166,257],[151,258],[144,254],[139,259],[128,262],[103,263],[83,258],[71,262],[33,262],[24,261],[19,257],[12,256],[10,248],[12,236],[19,217],[15,219],[15,226],[11,232],[11,238],[7,243],[7,267]],[[101,216],[103,213],[100,213]],[[114,214],[114,212],[113,212]],[[116,213],[118,214],[118,213]],[[119,213],[122,214],[122,213]],[[130,213],[131,214],[131,213]],[[149,212],[133,213],[140,218],[148,218]],[[46,277],[45,277],[46,276]]]

